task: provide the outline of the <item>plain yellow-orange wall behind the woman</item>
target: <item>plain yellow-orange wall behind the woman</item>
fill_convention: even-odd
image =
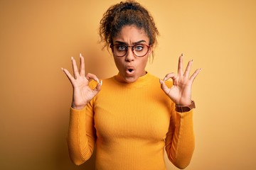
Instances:
[[[0,169],[93,169],[93,157],[80,167],[68,157],[72,87],[60,68],[81,52],[87,72],[117,73],[97,43],[102,13],[117,2],[0,1]],[[176,72],[181,52],[202,68],[187,169],[256,169],[256,1],[139,2],[161,33],[147,70]]]

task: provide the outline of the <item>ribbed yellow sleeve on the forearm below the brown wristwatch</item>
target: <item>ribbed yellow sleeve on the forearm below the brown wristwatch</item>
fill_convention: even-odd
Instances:
[[[166,135],[166,153],[179,169],[191,162],[195,139],[193,134],[193,110],[178,113],[172,107],[169,132]]]

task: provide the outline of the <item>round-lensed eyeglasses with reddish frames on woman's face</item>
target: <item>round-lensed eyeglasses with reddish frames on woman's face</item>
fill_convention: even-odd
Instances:
[[[116,57],[124,57],[127,54],[128,48],[132,48],[132,53],[137,57],[144,57],[148,52],[150,45],[137,44],[137,45],[123,45],[123,44],[115,44],[110,45],[114,56]]]

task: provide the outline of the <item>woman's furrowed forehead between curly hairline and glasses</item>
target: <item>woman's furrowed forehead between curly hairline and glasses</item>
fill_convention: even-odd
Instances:
[[[127,44],[134,44],[134,42],[142,40],[149,43],[149,36],[143,28],[137,28],[137,26],[124,26],[113,38],[113,42],[119,41]]]

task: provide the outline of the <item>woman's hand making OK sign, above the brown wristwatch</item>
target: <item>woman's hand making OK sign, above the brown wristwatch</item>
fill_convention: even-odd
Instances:
[[[191,89],[192,84],[201,69],[196,69],[196,71],[189,77],[191,71],[191,65],[193,60],[188,62],[185,72],[183,72],[183,55],[178,59],[178,74],[169,73],[166,74],[164,80],[160,79],[161,89],[171,98],[176,105],[179,106],[189,106],[191,104]],[[165,82],[168,79],[173,80],[173,86],[169,88],[166,86]]]

